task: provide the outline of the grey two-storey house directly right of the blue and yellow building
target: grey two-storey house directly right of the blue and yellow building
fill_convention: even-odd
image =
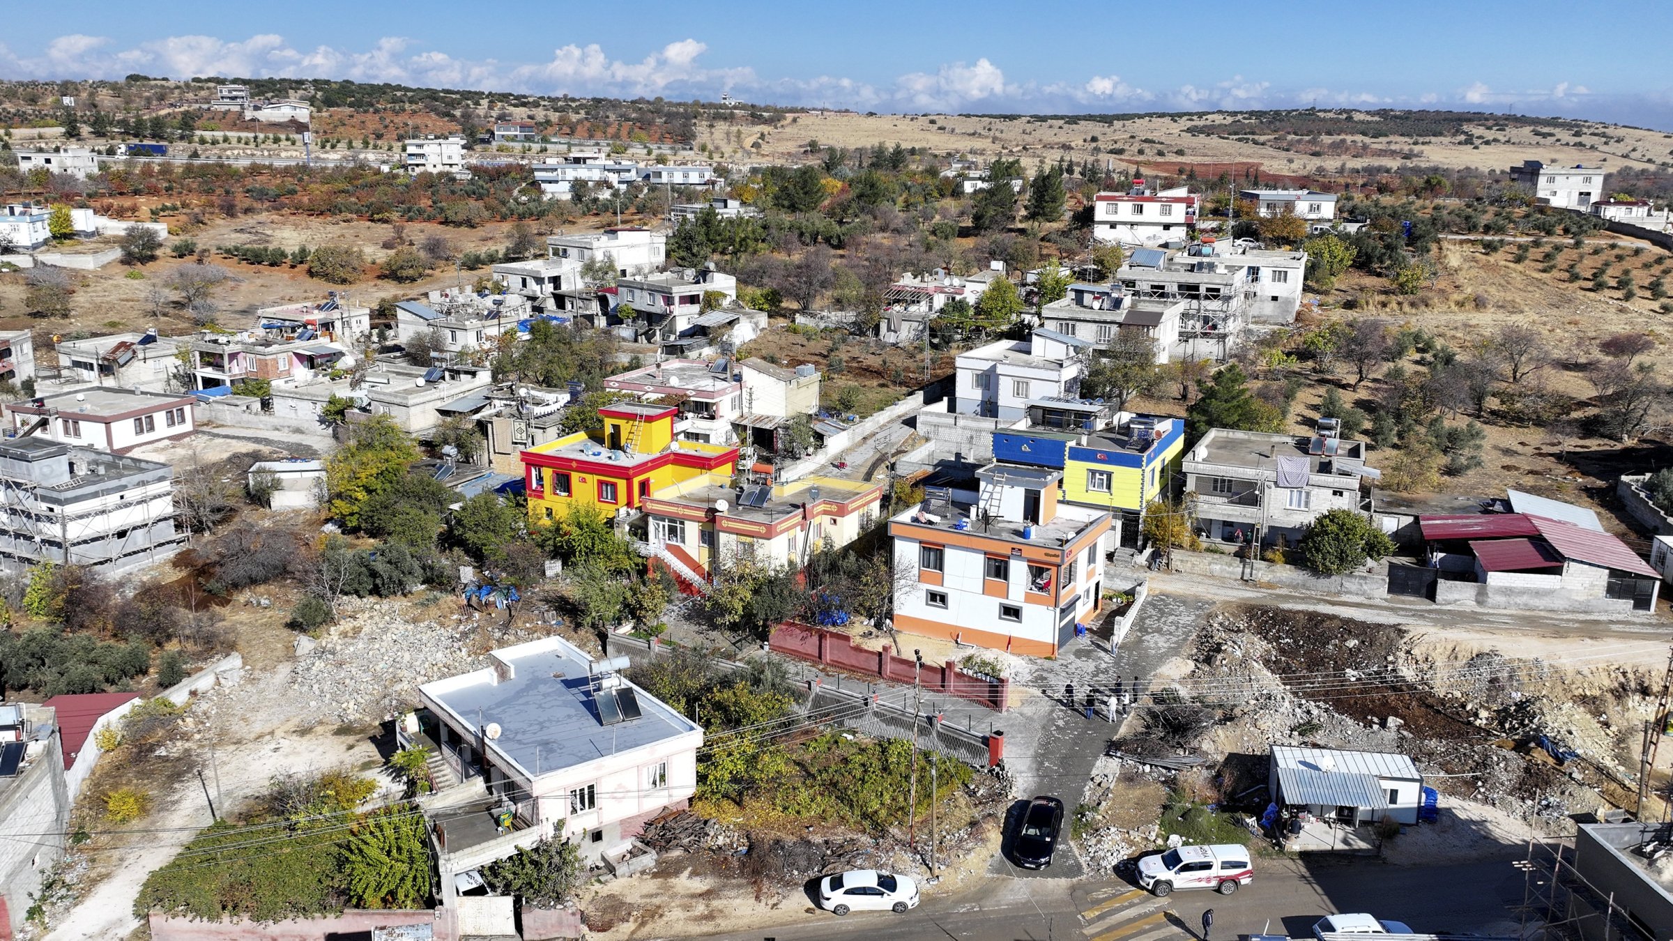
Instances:
[[[1293,546],[1327,511],[1369,512],[1377,470],[1362,440],[1210,429],[1179,469],[1203,537]]]

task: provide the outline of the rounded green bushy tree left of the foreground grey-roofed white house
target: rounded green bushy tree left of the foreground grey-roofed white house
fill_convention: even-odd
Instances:
[[[430,901],[430,834],[417,807],[380,807],[343,846],[348,901],[363,909],[423,908]]]

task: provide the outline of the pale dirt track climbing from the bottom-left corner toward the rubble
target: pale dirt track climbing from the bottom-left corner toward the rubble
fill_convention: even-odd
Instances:
[[[211,693],[216,710],[194,743],[196,767],[184,769],[174,787],[156,797],[161,810],[144,824],[157,836],[136,839],[132,847],[100,851],[97,862],[110,871],[109,876],[77,901],[45,941],[120,941],[139,928],[134,901],[146,877],[174,859],[196,836],[196,830],[179,827],[206,827],[211,822],[197,769],[209,782],[211,794],[219,790],[217,809],[226,812],[266,790],[278,774],[363,767],[380,760],[365,737],[336,735],[331,727],[308,727],[306,718],[293,718],[293,710],[266,708],[284,702],[291,692],[291,663],[283,663],[263,675],[246,676],[239,686]],[[201,705],[194,705],[189,715],[197,717],[201,710]],[[261,713],[281,718],[266,725],[249,722]]]

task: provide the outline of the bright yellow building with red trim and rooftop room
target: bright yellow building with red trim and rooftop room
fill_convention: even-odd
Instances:
[[[522,452],[529,521],[547,524],[582,506],[616,516],[651,494],[708,474],[731,477],[738,449],[674,440],[678,409],[621,402],[599,409],[596,439],[576,432]]]

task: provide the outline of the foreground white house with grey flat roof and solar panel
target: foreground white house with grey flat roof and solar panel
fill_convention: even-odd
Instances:
[[[696,792],[703,728],[622,676],[624,661],[557,636],[489,661],[418,686],[423,707],[400,723],[403,743],[425,743],[445,767],[430,804],[443,894],[453,876],[549,836],[591,861],[621,857]]]

